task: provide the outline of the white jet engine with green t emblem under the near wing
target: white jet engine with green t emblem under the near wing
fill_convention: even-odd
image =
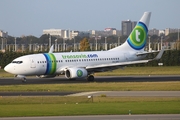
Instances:
[[[67,79],[84,78],[87,77],[88,72],[84,68],[68,68],[65,71],[65,77]]]

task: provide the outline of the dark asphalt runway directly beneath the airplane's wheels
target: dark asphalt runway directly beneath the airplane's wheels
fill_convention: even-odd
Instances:
[[[161,82],[180,81],[180,75],[168,76],[95,76],[95,82]],[[0,78],[0,85],[18,84],[61,84],[61,83],[87,83],[86,79],[68,80],[64,76],[55,78],[27,78],[26,83],[18,78]]]

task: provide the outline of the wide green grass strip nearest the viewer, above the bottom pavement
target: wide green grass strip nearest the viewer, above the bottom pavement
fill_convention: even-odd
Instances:
[[[29,99],[29,97],[22,98]],[[58,99],[59,103],[48,98],[33,97],[35,100],[43,99],[41,103],[39,100],[34,103],[26,103],[28,100],[21,100],[19,103],[17,97],[1,98],[4,101],[11,99],[10,101],[14,100],[17,103],[13,101],[4,104],[0,101],[0,117],[126,115],[129,114],[129,110],[131,110],[131,114],[180,114],[180,98],[94,97],[94,101],[91,102],[87,101],[87,98],[86,101],[81,101],[82,97],[53,97],[55,101]],[[69,99],[69,102],[65,104],[61,99]]]

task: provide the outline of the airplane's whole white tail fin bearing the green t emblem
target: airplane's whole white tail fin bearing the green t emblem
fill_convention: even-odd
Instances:
[[[143,16],[136,24],[125,43],[109,51],[144,51],[148,35],[150,17],[151,12],[144,12]]]

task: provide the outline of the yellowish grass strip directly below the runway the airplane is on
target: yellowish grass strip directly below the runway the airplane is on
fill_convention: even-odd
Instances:
[[[179,91],[180,82],[102,82],[38,85],[2,85],[1,92],[8,91]]]

